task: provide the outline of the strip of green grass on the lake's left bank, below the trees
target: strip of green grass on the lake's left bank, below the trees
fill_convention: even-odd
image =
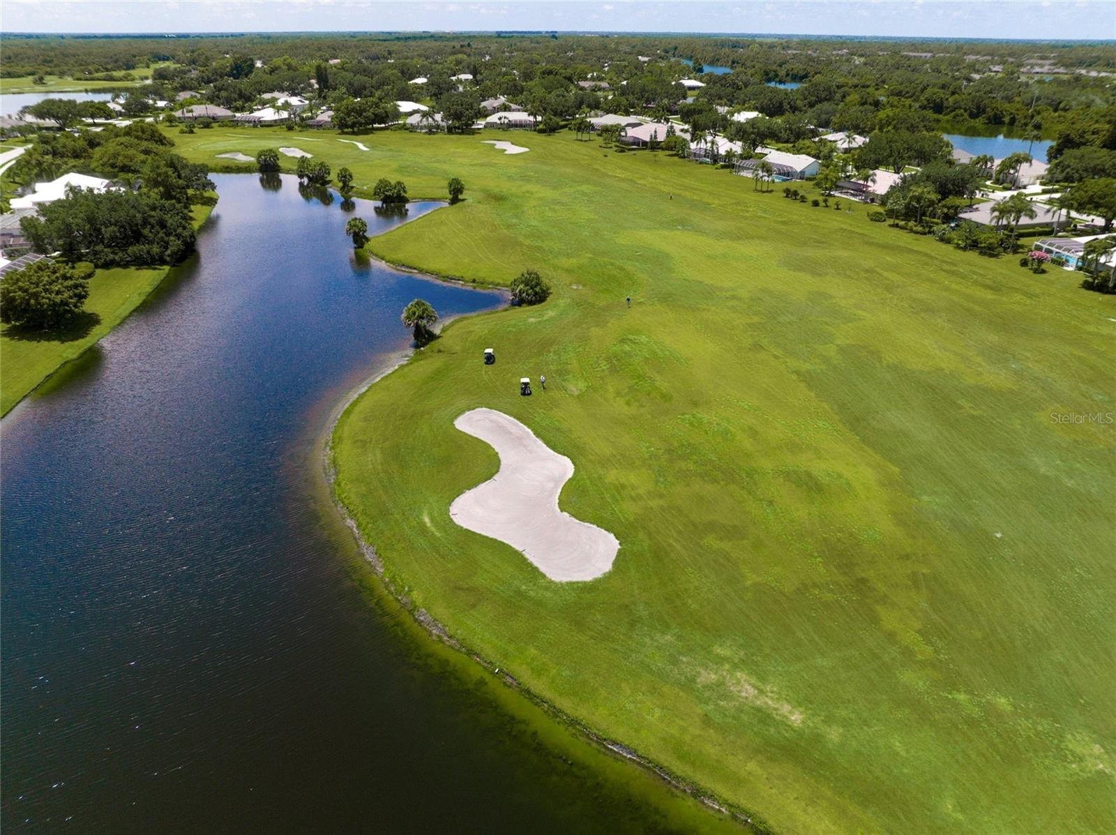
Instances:
[[[195,228],[201,228],[212,211],[211,205],[195,205]],[[85,316],[66,333],[42,335],[12,325],[0,328],[0,415],[119,325],[171,269],[97,270],[89,279]]]

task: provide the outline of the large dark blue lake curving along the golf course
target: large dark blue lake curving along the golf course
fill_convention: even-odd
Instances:
[[[416,640],[323,495],[403,306],[502,297],[356,261],[290,176],[214,181],[200,256],[0,424],[3,831],[663,831],[650,777]]]

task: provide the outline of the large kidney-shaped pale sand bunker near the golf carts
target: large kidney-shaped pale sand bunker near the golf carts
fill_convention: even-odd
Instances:
[[[507,543],[550,579],[593,579],[613,567],[620,547],[616,537],[558,509],[558,493],[574,474],[573,461],[492,409],[473,409],[453,425],[500,455],[496,476],[450,505],[453,521]]]

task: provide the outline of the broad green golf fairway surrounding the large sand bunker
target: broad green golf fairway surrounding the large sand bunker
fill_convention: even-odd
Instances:
[[[1116,428],[1050,416],[1116,412],[1116,298],[662,153],[358,138],[175,136],[412,195],[460,176],[369,249],[554,284],[338,424],[339,495],[415,606],[780,832],[1116,829]],[[451,522],[498,466],[452,426],[481,405],[573,459],[561,505],[618,537],[609,574],[551,583]]]

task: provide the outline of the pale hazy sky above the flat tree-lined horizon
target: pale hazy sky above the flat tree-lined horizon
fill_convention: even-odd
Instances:
[[[1110,39],[1116,0],[4,0],[0,32],[750,32]]]

